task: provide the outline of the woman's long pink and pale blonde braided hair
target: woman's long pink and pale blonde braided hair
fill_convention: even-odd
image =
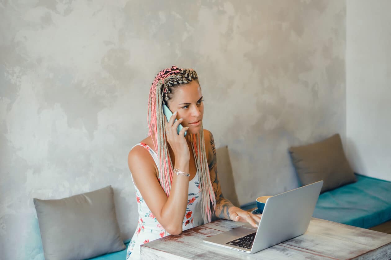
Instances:
[[[171,68],[161,70],[156,75],[149,91],[148,136],[152,136],[154,147],[158,153],[160,185],[167,196],[170,195],[171,190],[173,165],[164,134],[166,129],[162,105],[167,104],[167,101],[172,98],[174,88],[197,79],[197,73],[193,69],[179,69],[176,66],[172,66]],[[201,203],[204,209],[203,220],[204,223],[208,223],[212,219],[211,207],[214,209],[216,198],[210,181],[202,122],[199,133],[190,134],[190,142],[192,143],[191,147],[196,162],[195,166],[198,170]]]

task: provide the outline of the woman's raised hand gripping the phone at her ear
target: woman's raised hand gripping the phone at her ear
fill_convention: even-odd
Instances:
[[[175,161],[177,163],[184,163],[188,164],[190,160],[190,151],[189,147],[187,145],[187,141],[185,139],[185,131],[189,127],[183,127],[181,131],[179,131],[179,134],[177,132],[178,125],[182,122],[183,119],[176,119],[176,112],[170,117],[170,120],[167,122],[167,117],[164,116],[166,120],[165,127],[166,127],[166,138],[167,142],[170,144],[170,147],[172,151],[174,152]],[[168,133],[167,133],[168,131]]]

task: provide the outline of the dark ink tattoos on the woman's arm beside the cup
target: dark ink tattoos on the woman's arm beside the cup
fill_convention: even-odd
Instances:
[[[210,136],[210,147],[208,149],[208,166],[210,173],[210,181],[212,182],[213,191],[216,196],[216,207],[215,207],[215,216],[217,218],[230,219],[230,214],[228,210],[230,207],[233,207],[233,204],[224,198],[221,192],[219,178],[217,176],[217,156],[216,156],[216,147],[215,140],[213,139],[212,133],[209,132]]]

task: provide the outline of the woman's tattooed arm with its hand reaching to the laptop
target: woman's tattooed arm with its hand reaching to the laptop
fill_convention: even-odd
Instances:
[[[224,198],[221,192],[219,178],[217,176],[217,156],[213,135],[204,129],[205,149],[208,154],[208,166],[210,181],[216,197],[215,216],[217,218],[229,219],[233,221],[248,222],[254,227],[258,227],[261,217],[251,214],[245,210],[235,207],[229,200]]]

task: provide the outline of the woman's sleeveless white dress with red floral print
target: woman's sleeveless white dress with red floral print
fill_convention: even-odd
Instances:
[[[159,165],[158,155],[154,150],[151,149],[145,143],[138,143],[136,145],[140,145],[147,149],[151,156],[153,157],[156,165]],[[135,146],[136,146],[135,145]],[[160,172],[159,172],[159,180],[160,180]],[[133,181],[133,177],[132,177]],[[135,185],[135,182],[133,181]],[[137,200],[137,208],[138,208],[138,225],[136,227],[136,231],[129,243],[127,248],[126,259],[140,259],[140,245],[153,241],[155,239],[159,239],[161,237],[165,237],[170,235],[167,231],[164,230],[163,226],[157,221],[155,216],[152,214],[151,210],[149,210],[147,204],[144,202],[143,197],[140,194],[140,191],[136,190],[136,200]],[[189,181],[189,190],[188,190],[188,200],[187,200],[187,208],[186,214],[183,218],[182,230],[187,230],[189,228],[193,228],[194,226],[202,225],[202,216],[201,216],[201,196],[200,196],[200,186],[198,180],[198,171],[195,174],[194,178]]]

